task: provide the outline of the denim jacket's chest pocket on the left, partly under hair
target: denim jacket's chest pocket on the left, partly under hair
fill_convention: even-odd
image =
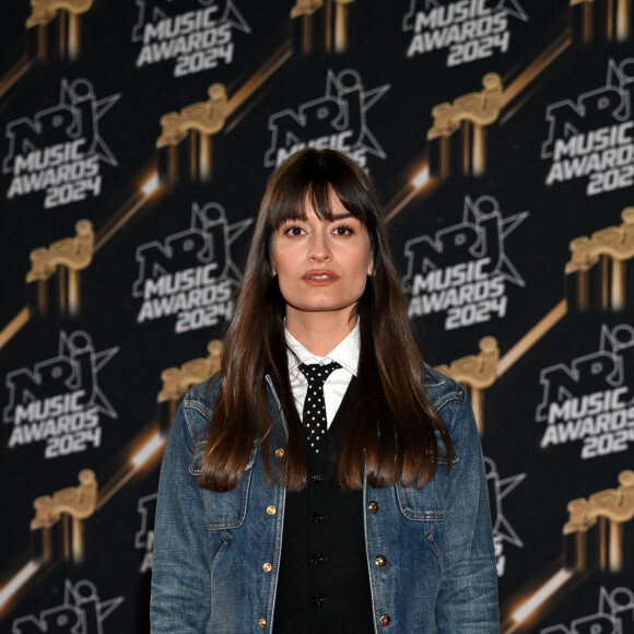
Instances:
[[[196,445],[196,453],[189,466],[189,472],[197,478],[200,476],[204,447],[204,442]],[[206,528],[209,530],[224,530],[238,528],[243,524],[247,513],[254,461],[255,451],[235,489],[224,492],[202,490]]]

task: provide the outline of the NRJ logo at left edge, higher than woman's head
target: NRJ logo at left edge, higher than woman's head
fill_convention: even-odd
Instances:
[[[120,94],[97,99],[85,79],[61,80],[59,104],[7,125],[8,154],[2,173],[11,174],[7,198],[44,191],[51,209],[102,191],[101,164],[117,166],[102,139],[99,120]]]

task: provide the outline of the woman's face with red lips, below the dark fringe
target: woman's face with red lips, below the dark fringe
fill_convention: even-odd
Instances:
[[[286,302],[286,324],[307,313],[345,319],[372,274],[365,226],[332,195],[333,220],[319,220],[308,204],[306,220],[281,224],[271,239],[271,265]]]

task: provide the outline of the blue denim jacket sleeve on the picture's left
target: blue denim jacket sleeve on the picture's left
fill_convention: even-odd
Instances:
[[[204,428],[208,415],[200,399],[190,399],[187,395],[178,408],[165,448],[154,533],[152,634],[200,634],[207,627],[209,549],[203,494],[191,467],[197,444],[204,442],[201,427]]]

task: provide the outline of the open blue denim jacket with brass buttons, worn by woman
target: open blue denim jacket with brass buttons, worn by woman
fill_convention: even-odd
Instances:
[[[269,408],[279,401],[267,377]],[[364,484],[365,544],[375,632],[494,634],[497,574],[482,451],[467,395],[427,368],[425,388],[455,447],[422,489]],[[163,458],[155,521],[153,634],[274,632],[285,490],[268,484],[254,448],[239,484],[226,493],[200,489],[220,380],[192,388],[176,414]],[[272,460],[285,447],[273,430]],[[282,454],[283,455],[283,454]],[[387,565],[376,565],[383,555]],[[384,561],[381,560],[381,564]],[[341,631],[333,624],[333,631]],[[298,633],[300,634],[300,633]]]

